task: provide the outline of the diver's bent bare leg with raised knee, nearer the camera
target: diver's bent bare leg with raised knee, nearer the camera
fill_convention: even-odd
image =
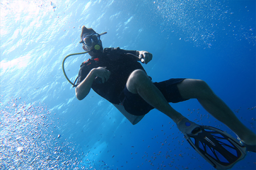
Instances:
[[[163,94],[154,86],[144,71],[133,71],[127,80],[126,87],[131,93],[139,94],[148,104],[166,114],[175,123],[183,118],[182,114],[171,107]]]

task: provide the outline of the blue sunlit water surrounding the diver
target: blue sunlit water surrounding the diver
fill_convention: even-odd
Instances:
[[[93,91],[76,99],[61,63],[83,52],[82,25],[108,32],[104,47],[152,53],[156,82],[205,80],[255,132],[255,1],[1,1],[1,169],[214,169],[163,113],[131,125]],[[67,59],[72,81],[88,58]],[[171,105],[236,137],[197,100]]]

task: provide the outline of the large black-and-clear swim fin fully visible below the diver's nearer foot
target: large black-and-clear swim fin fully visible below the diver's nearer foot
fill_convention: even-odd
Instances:
[[[187,118],[183,118],[177,128],[188,143],[216,169],[232,168],[245,158],[246,147],[220,129],[200,126]]]

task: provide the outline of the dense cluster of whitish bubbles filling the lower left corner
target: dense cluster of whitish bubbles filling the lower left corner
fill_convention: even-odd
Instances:
[[[86,169],[81,148],[61,138],[59,119],[46,106],[5,101],[0,102],[0,169]]]

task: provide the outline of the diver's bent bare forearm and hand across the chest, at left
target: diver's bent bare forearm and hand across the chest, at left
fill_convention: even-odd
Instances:
[[[90,70],[86,78],[76,87],[76,97],[78,100],[84,99],[89,94],[96,76],[102,79],[102,83],[105,83],[109,79],[110,71],[106,67],[98,67]]]

